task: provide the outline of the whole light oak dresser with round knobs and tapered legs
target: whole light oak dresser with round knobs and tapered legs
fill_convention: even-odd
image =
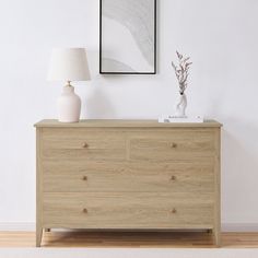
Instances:
[[[43,230],[208,230],[220,245],[221,124],[35,125]]]

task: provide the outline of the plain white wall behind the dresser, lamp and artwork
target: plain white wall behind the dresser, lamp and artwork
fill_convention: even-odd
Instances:
[[[35,221],[35,130],[55,118],[52,47],[85,46],[93,80],[77,86],[87,118],[173,110],[175,50],[194,60],[188,113],[224,124],[222,220],[258,223],[258,1],[160,0],[159,74],[98,74],[98,0],[0,1],[0,222]]]

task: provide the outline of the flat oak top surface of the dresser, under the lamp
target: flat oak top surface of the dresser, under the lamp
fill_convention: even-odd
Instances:
[[[59,122],[56,119],[45,119],[34,125],[35,127],[146,127],[146,128],[167,128],[167,127],[222,127],[222,124],[215,120],[204,120],[204,122],[159,122],[157,120],[122,120],[122,119],[87,119],[79,122]]]

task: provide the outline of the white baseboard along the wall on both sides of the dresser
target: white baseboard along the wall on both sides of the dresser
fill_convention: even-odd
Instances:
[[[222,232],[258,232],[258,223],[222,223]],[[35,222],[0,222],[0,231],[35,231]]]

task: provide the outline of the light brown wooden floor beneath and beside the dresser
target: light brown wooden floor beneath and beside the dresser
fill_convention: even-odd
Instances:
[[[0,247],[34,247],[34,232],[0,232]],[[44,247],[213,248],[209,233],[45,232]],[[258,248],[258,233],[223,233],[222,247]]]

